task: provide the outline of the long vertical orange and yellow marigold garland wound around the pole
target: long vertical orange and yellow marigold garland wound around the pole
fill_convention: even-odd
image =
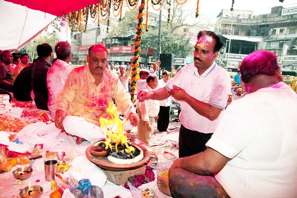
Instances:
[[[143,35],[143,16],[144,16],[144,9],[146,6],[146,0],[141,0],[141,5],[138,8],[138,26],[136,28],[137,33],[135,37],[135,51],[134,51],[134,57],[132,58],[132,72],[131,72],[131,86],[130,86],[130,95],[131,95],[131,100],[132,102],[135,101],[134,94],[136,93],[136,86],[137,86],[137,80],[139,79],[139,74],[138,74],[138,67],[139,67],[139,51],[141,50],[140,44],[141,44],[141,36]]]

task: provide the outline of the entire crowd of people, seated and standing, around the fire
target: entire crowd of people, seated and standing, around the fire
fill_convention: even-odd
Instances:
[[[215,62],[223,46],[220,36],[200,31],[197,39],[194,64],[180,68],[172,79],[168,71],[158,78],[159,61],[140,70],[140,102],[125,115],[138,127],[137,138],[149,144],[155,120],[157,130],[169,132],[171,100],[180,104],[179,158],[168,178],[157,177],[159,190],[174,198],[297,197],[297,123],[286,119],[297,115],[297,95],[282,82],[277,56],[250,53],[231,83]],[[52,48],[39,45],[31,66],[27,55],[0,52],[0,92],[13,92],[18,79],[26,79],[31,86],[26,96],[49,110],[55,126],[76,136],[77,144],[106,138],[99,118],[111,119],[106,112],[110,102],[121,112],[132,104],[132,61],[128,68],[109,65],[107,49],[95,45],[89,48],[88,64],[72,70],[71,46],[59,42],[55,52],[51,64]]]

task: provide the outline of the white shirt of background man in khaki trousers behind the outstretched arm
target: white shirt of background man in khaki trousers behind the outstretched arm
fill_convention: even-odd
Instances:
[[[153,91],[148,85],[144,88],[144,91]],[[143,121],[149,122],[149,117],[156,117],[160,110],[159,101],[155,99],[148,99],[143,102],[139,102],[139,109],[141,112],[141,118]]]

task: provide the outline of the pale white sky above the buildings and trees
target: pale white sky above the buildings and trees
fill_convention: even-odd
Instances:
[[[174,0],[171,0],[173,3]],[[180,0],[181,1],[181,0]],[[199,11],[201,17],[207,18],[211,23],[216,22],[216,16],[222,9],[231,8],[232,0],[200,0]],[[234,9],[236,10],[254,10],[254,15],[270,13],[271,7],[282,5],[285,8],[297,7],[297,0],[235,0]],[[184,9],[193,12],[195,18],[195,12],[197,7],[197,0],[188,0],[184,5]],[[152,7],[149,7],[149,11],[155,12]],[[163,14],[167,10],[163,9]]]

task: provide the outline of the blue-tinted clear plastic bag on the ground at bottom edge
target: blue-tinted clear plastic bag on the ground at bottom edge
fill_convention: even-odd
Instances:
[[[104,198],[103,191],[98,186],[92,186],[90,180],[82,179],[78,184],[69,189],[75,198]]]

